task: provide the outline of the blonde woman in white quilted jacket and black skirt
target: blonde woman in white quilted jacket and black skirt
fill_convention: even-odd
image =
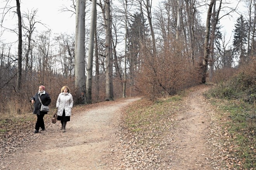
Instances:
[[[63,86],[61,88],[56,107],[58,108],[57,120],[61,121],[62,132],[66,132],[66,124],[70,121],[71,108],[73,107],[73,97],[69,87]]]

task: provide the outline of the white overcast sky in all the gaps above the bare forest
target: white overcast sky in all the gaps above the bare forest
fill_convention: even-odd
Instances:
[[[115,0],[113,0],[115,1]],[[161,0],[153,0],[154,5],[157,5],[157,3]],[[236,0],[232,0],[234,2]],[[21,12],[24,14],[24,12],[31,12],[32,9],[38,9],[37,12],[37,19],[38,21],[41,21],[43,24],[47,24],[48,28],[52,29],[52,33],[65,33],[71,34],[74,32],[75,29],[75,15],[71,17],[71,12],[60,12],[60,9],[63,7],[63,4],[66,4],[67,7],[69,7],[69,4],[71,3],[70,0],[21,0]],[[3,7],[5,5],[5,2],[0,2],[0,7]],[[11,0],[11,6],[16,6],[16,1]],[[242,7],[240,5],[240,7]],[[204,16],[206,15],[207,9],[205,10]],[[13,14],[10,14],[11,16]],[[237,14],[232,14],[233,18],[225,17],[221,20],[221,25],[223,25],[223,31],[226,31],[228,33],[228,37],[231,36],[232,31],[234,29],[234,24],[237,19]],[[15,25],[17,22],[10,20],[11,17],[9,17],[9,20],[5,21],[4,26],[6,27],[17,27]],[[14,18],[16,19],[16,18]],[[202,22],[205,22],[206,19],[202,18]],[[46,28],[37,25],[36,29],[38,31],[46,30]],[[16,34],[7,34],[5,32],[4,36],[0,37],[3,42],[12,42],[17,41],[17,35]]]

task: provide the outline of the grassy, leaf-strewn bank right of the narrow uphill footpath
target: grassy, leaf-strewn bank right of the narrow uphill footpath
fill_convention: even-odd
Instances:
[[[223,112],[220,115],[229,137],[230,157],[238,158],[234,167],[256,167],[256,61],[242,67],[231,78],[221,81],[205,95]]]

